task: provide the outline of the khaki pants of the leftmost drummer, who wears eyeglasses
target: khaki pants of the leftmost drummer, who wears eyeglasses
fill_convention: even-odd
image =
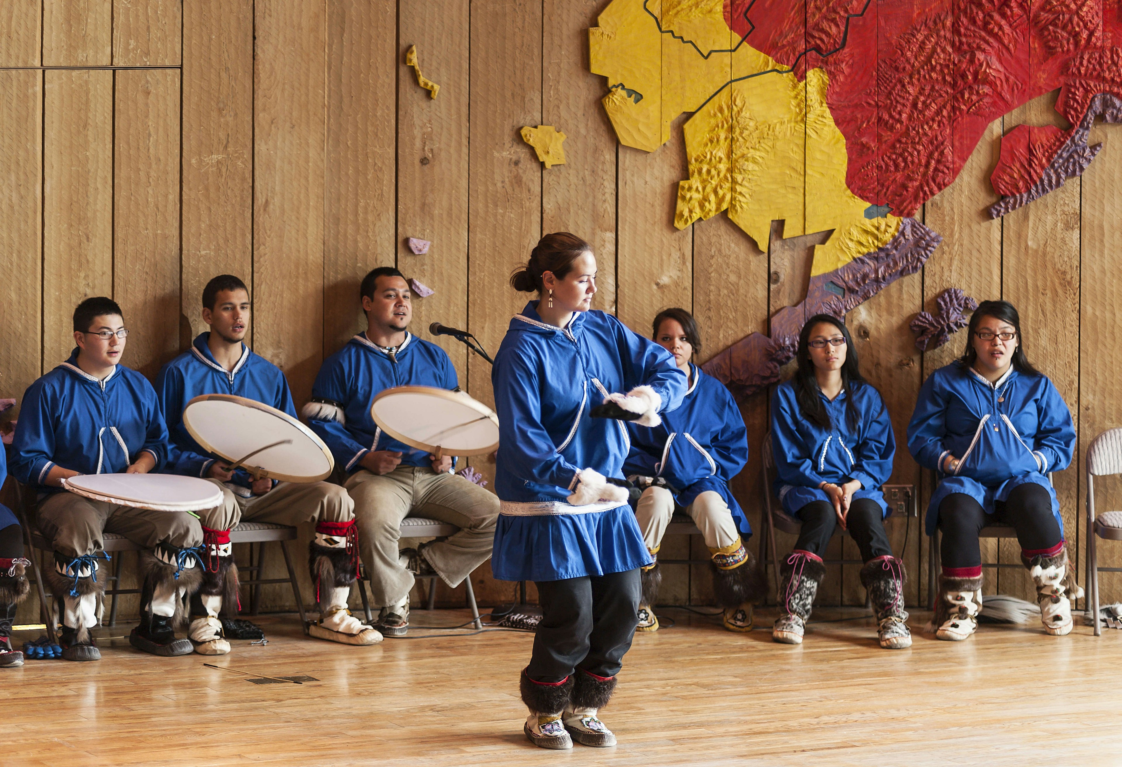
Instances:
[[[45,497],[39,503],[38,522],[54,550],[68,557],[101,551],[107,532],[125,536],[146,549],[157,544],[193,548],[203,542],[199,520],[185,511],[134,509],[68,492]]]

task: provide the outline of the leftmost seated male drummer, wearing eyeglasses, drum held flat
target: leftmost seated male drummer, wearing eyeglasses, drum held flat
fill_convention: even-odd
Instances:
[[[187,512],[92,501],[63,490],[79,474],[144,474],[167,457],[167,428],[148,380],[120,364],[128,330],[111,299],[86,299],[74,310],[70,359],[33,383],[24,395],[11,473],[39,493],[38,526],[52,541],[55,566],[46,572],[62,617],[63,658],[98,660],[90,629],[101,618],[105,579],[98,578],[103,533],[145,547],[140,626],[129,642],[153,655],[191,652],[175,638],[186,624],[185,600],[202,581],[199,520]]]

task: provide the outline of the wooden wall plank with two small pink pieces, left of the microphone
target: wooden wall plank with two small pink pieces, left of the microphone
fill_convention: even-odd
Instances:
[[[414,331],[452,358],[461,385],[468,381],[468,350],[448,336],[432,337],[429,325],[468,325],[468,0],[402,6],[397,53],[417,46],[421,71],[440,85],[432,99],[413,67],[397,66],[397,254],[398,268],[436,293],[413,300]],[[407,237],[432,243],[416,255]],[[491,353],[495,349],[490,349]],[[486,363],[481,363],[486,365]]]

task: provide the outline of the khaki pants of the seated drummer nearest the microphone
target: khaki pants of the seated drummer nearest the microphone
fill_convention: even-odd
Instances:
[[[359,553],[378,606],[398,604],[413,588],[413,574],[397,560],[402,520],[425,517],[460,529],[426,546],[424,557],[456,587],[490,557],[498,521],[498,496],[456,474],[429,467],[398,466],[389,474],[359,469],[347,480],[355,499]]]

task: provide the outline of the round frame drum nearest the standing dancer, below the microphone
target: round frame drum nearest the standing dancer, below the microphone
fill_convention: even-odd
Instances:
[[[370,416],[394,439],[436,457],[473,456],[498,448],[498,417],[466,392],[396,386],[374,398]]]

